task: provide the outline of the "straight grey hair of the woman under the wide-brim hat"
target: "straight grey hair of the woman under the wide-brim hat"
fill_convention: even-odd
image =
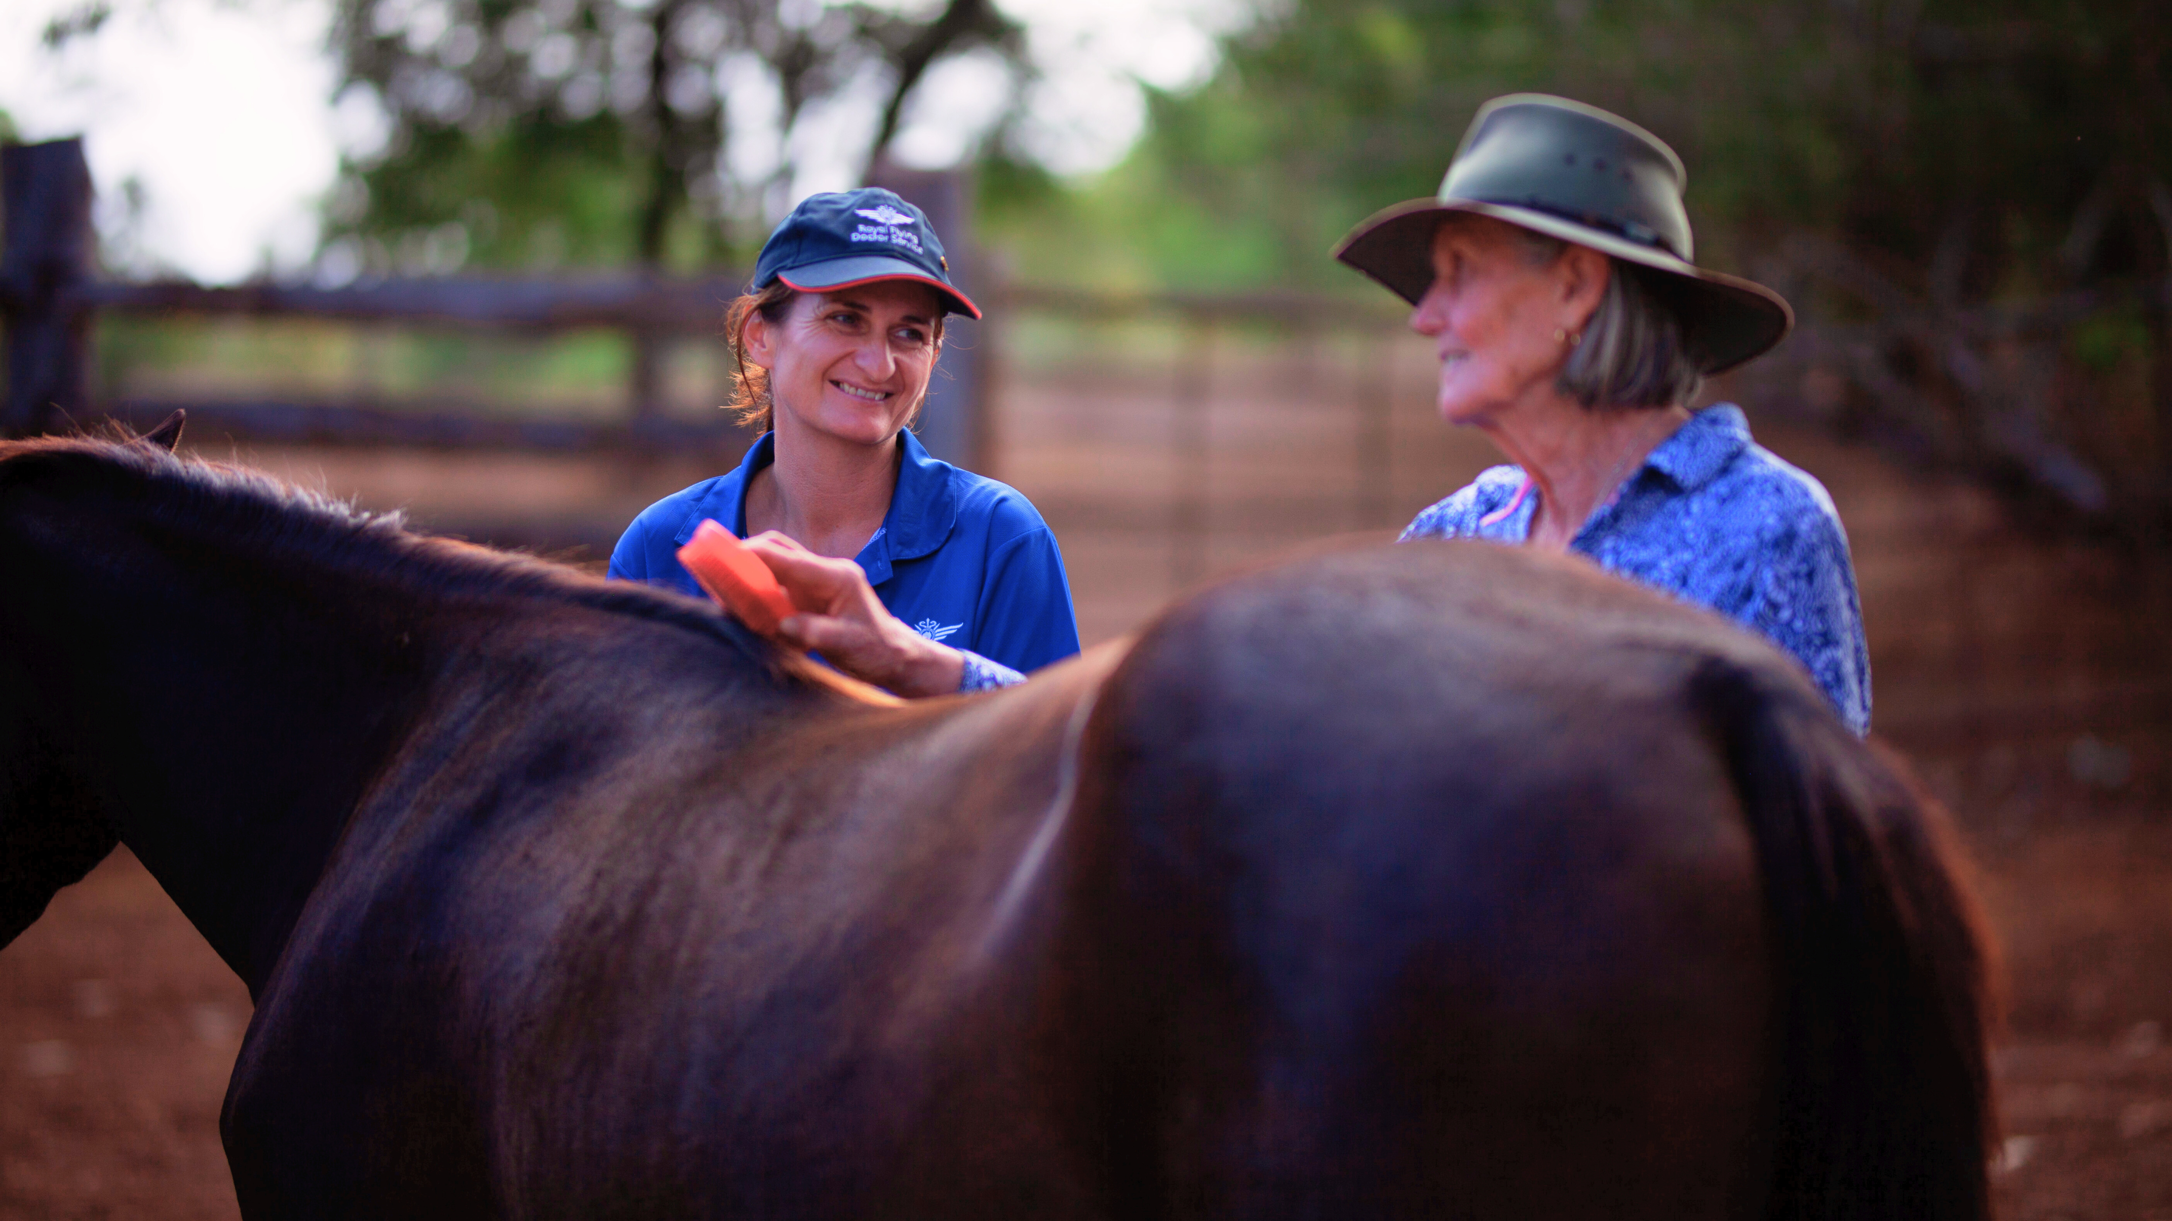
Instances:
[[[1514,226],[1533,267],[1551,265],[1568,243]],[[1583,324],[1553,382],[1583,406],[1675,406],[1705,389],[1705,372],[1681,341],[1681,317],[1662,302],[1633,263],[1607,256],[1607,293]]]

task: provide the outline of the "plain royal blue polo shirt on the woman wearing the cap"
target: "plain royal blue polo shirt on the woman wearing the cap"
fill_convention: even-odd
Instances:
[[[899,432],[897,491],[875,537],[854,556],[875,597],[923,637],[1016,671],[1079,652],[1071,582],[1056,534],[1016,489],[927,456]],[[715,517],[747,534],[747,482],[778,456],[765,432],[738,469],[675,491],[641,511],[610,552],[610,576],[706,597],[678,550]],[[973,667],[967,689],[975,682]]]

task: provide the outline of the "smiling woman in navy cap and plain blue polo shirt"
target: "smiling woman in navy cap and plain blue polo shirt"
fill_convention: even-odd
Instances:
[[[882,189],[804,200],[728,319],[743,417],[767,432],[734,471],[634,517],[610,576],[702,597],[678,547],[712,517],[815,608],[784,621],[788,643],[899,695],[1001,687],[1075,654],[1040,513],[906,428],[947,313],[980,317],[919,209]]]

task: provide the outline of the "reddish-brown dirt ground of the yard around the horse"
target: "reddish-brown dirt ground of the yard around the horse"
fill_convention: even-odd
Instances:
[[[1166,378],[1160,391],[1121,372],[1012,382],[997,474],[1062,539],[1088,643],[1292,541],[1386,539],[1497,461],[1429,419],[1423,352],[1390,356],[1384,382],[1232,361],[1201,406],[1195,465],[1173,456],[1156,402]],[[1349,385],[1386,385],[1388,400],[1338,400]],[[1364,413],[1377,413],[1368,443]],[[2031,534],[1981,491],[1764,421],[1759,437],[1831,487],[1879,728],[1955,808],[1981,865],[2011,980],[2000,1214],[2172,1221],[2172,576]],[[222,456],[219,439],[200,443]],[[608,543],[641,504],[736,461],[245,456],[545,550]],[[1186,519],[1192,539],[1171,530]],[[0,1221],[232,1217],[217,1112],[248,1015],[241,984],[126,849],[63,891],[0,952]]]

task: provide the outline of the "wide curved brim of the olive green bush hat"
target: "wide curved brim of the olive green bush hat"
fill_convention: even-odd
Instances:
[[[1490,215],[1657,272],[1642,280],[1681,317],[1683,339],[1707,374],[1722,374],[1768,352],[1794,328],[1788,300],[1755,280],[1707,272],[1664,250],[1551,213],[1481,200],[1405,200],[1381,209],[1351,228],[1336,243],[1334,256],[1418,304],[1434,285],[1434,230],[1447,213]]]

